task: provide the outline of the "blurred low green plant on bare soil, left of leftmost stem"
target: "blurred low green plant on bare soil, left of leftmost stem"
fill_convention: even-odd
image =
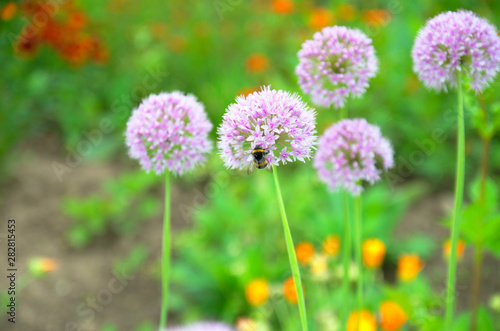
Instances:
[[[157,180],[154,174],[136,171],[105,181],[100,192],[88,197],[65,198],[62,210],[73,220],[67,232],[71,245],[83,248],[108,230],[131,233],[157,214],[160,202],[150,194]]]

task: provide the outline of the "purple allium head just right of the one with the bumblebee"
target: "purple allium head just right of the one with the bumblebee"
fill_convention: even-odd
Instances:
[[[344,188],[353,195],[362,182],[373,184],[394,166],[394,151],[380,128],[363,118],[333,124],[319,138],[314,167],[330,190]]]

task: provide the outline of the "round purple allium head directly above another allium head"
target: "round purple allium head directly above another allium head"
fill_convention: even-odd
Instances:
[[[361,96],[378,70],[372,40],[345,26],[316,32],[302,44],[298,56],[299,85],[314,104],[323,107],[341,108],[350,95]]]

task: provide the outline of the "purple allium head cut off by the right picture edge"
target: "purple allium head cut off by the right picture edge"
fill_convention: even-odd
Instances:
[[[481,91],[493,80],[500,63],[496,28],[470,11],[437,15],[422,28],[412,50],[413,70],[428,88],[457,86],[457,70],[470,76]]]

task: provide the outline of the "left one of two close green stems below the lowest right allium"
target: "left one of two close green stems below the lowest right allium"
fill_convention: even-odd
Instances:
[[[350,305],[349,305],[349,266],[351,263],[351,219],[349,215],[349,194],[344,191],[342,192],[342,198],[344,200],[344,242],[343,242],[343,265],[344,265],[344,277],[342,278],[342,293],[344,296],[344,329],[347,327],[347,319],[349,318]],[[349,301],[348,301],[349,300]]]

